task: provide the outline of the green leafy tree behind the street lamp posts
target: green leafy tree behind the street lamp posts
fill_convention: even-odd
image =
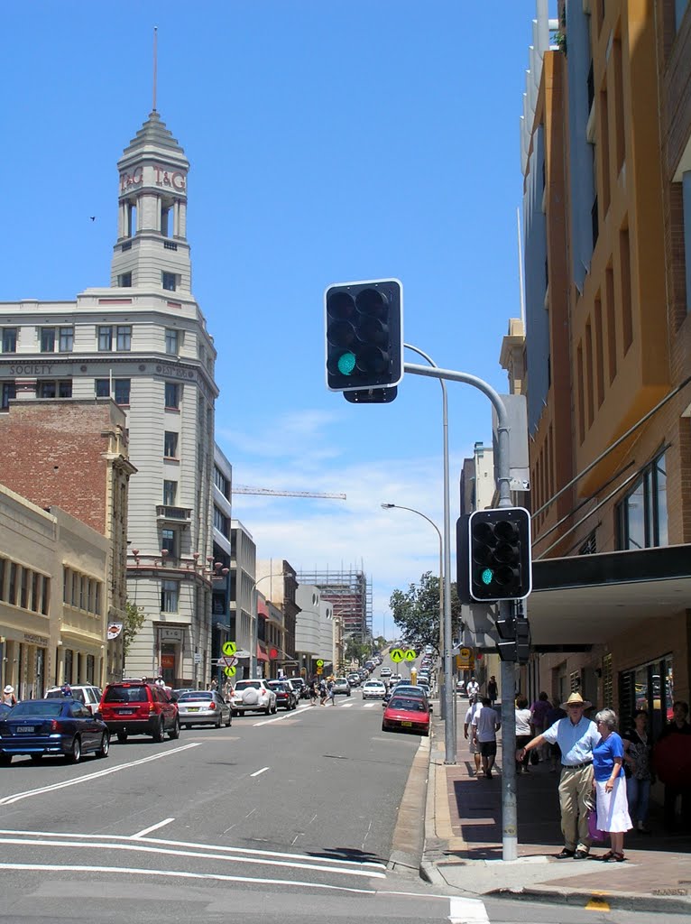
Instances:
[[[389,601],[399,639],[403,645],[424,650],[431,645],[439,650],[439,577],[426,571],[417,584],[410,584],[408,590],[394,590]],[[461,604],[455,584],[451,585],[452,636],[457,638],[461,628]]]

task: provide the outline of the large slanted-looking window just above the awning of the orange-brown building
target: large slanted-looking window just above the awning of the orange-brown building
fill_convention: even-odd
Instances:
[[[617,507],[619,549],[669,545],[667,535],[667,468],[662,453],[636,481]]]

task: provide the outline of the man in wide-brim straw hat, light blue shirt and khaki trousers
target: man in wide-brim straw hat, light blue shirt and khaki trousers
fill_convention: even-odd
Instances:
[[[562,703],[565,719],[559,719],[541,735],[516,751],[523,760],[526,751],[542,744],[558,744],[562,752],[562,776],[559,780],[559,807],[562,811],[564,849],[558,859],[586,859],[590,850],[588,809],[593,797],[593,748],[600,741],[598,726],[583,711],[592,706],[580,693],[572,693]]]

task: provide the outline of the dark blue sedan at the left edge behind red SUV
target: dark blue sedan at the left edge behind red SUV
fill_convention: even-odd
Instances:
[[[84,754],[107,757],[109,750],[108,726],[76,699],[24,699],[0,718],[0,765],[15,754],[77,763]]]

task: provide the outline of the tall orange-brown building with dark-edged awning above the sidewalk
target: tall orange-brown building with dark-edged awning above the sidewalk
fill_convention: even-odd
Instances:
[[[691,5],[546,6],[522,128],[535,686],[655,733],[691,690]]]

